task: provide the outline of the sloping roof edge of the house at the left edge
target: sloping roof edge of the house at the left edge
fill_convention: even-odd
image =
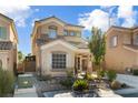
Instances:
[[[13,30],[13,34],[14,34],[17,41],[18,41],[18,33],[17,33],[17,29],[16,29],[16,24],[14,24],[13,20],[12,20],[11,18],[9,18],[9,17],[2,14],[2,13],[0,13],[0,17],[4,18],[7,21],[10,22],[11,28],[12,28],[12,30]]]

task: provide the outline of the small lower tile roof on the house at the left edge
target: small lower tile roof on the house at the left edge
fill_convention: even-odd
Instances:
[[[12,42],[10,41],[0,41],[0,50],[11,50]]]

